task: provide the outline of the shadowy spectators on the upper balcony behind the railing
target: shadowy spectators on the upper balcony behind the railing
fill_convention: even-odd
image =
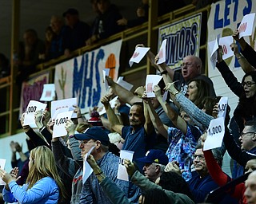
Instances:
[[[194,4],[198,10],[211,2],[213,1],[158,0],[158,16],[182,8],[186,4]],[[14,65],[18,66],[17,84],[21,84],[31,73],[35,73],[35,66],[43,61],[50,61],[64,54],[70,57],[70,53],[75,49],[93,45],[114,33],[141,25],[148,20],[148,0],[140,2],[136,10],[137,18],[132,20],[123,17],[118,6],[112,4],[110,0],[91,0],[90,3],[96,14],[91,25],[80,20],[78,10],[70,8],[62,16],[56,14],[50,18],[50,26],[46,27],[44,41],[38,38],[36,30],[26,29],[23,41],[19,43],[18,52],[14,53],[13,57]],[[0,78],[10,75],[10,63],[7,58],[0,53]]]

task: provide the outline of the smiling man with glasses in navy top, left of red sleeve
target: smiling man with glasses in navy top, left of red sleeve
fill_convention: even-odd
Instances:
[[[218,149],[212,150],[214,158],[222,167],[222,154]],[[192,172],[192,179],[188,182],[191,193],[194,196],[194,202],[204,202],[206,195],[218,187],[218,184],[211,178],[206,160],[202,152],[202,145],[198,143],[196,151],[194,152],[194,170]]]

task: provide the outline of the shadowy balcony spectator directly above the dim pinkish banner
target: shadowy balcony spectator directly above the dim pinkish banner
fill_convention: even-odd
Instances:
[[[18,64],[16,79],[18,84],[27,80],[31,73],[36,72],[35,66],[41,62],[39,55],[46,52],[44,42],[38,39],[38,33],[34,29],[26,29],[23,40],[19,45],[18,61],[16,61]]]

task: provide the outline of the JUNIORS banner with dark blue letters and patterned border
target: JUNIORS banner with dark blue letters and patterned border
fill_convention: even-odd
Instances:
[[[199,56],[202,14],[194,14],[158,29],[158,49],[166,42],[166,64],[175,69],[187,55]]]

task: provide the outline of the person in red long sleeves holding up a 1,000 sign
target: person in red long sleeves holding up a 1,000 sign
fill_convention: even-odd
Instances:
[[[207,138],[207,133],[205,132],[202,136],[202,147],[203,143],[205,142]],[[214,179],[215,182],[218,183],[219,186],[224,186],[226,183],[230,182],[230,177],[226,175],[223,171],[222,168],[216,163],[214,156],[212,154],[211,150],[203,151],[203,154],[206,159],[206,165],[208,167],[209,173],[211,177]],[[246,163],[246,168],[245,168],[245,174],[248,172],[252,172],[256,170],[256,159],[251,159]],[[234,190],[230,190],[230,194],[232,197],[237,198],[239,203],[247,203],[246,198],[244,196],[246,190],[245,183],[242,182],[235,186]]]

